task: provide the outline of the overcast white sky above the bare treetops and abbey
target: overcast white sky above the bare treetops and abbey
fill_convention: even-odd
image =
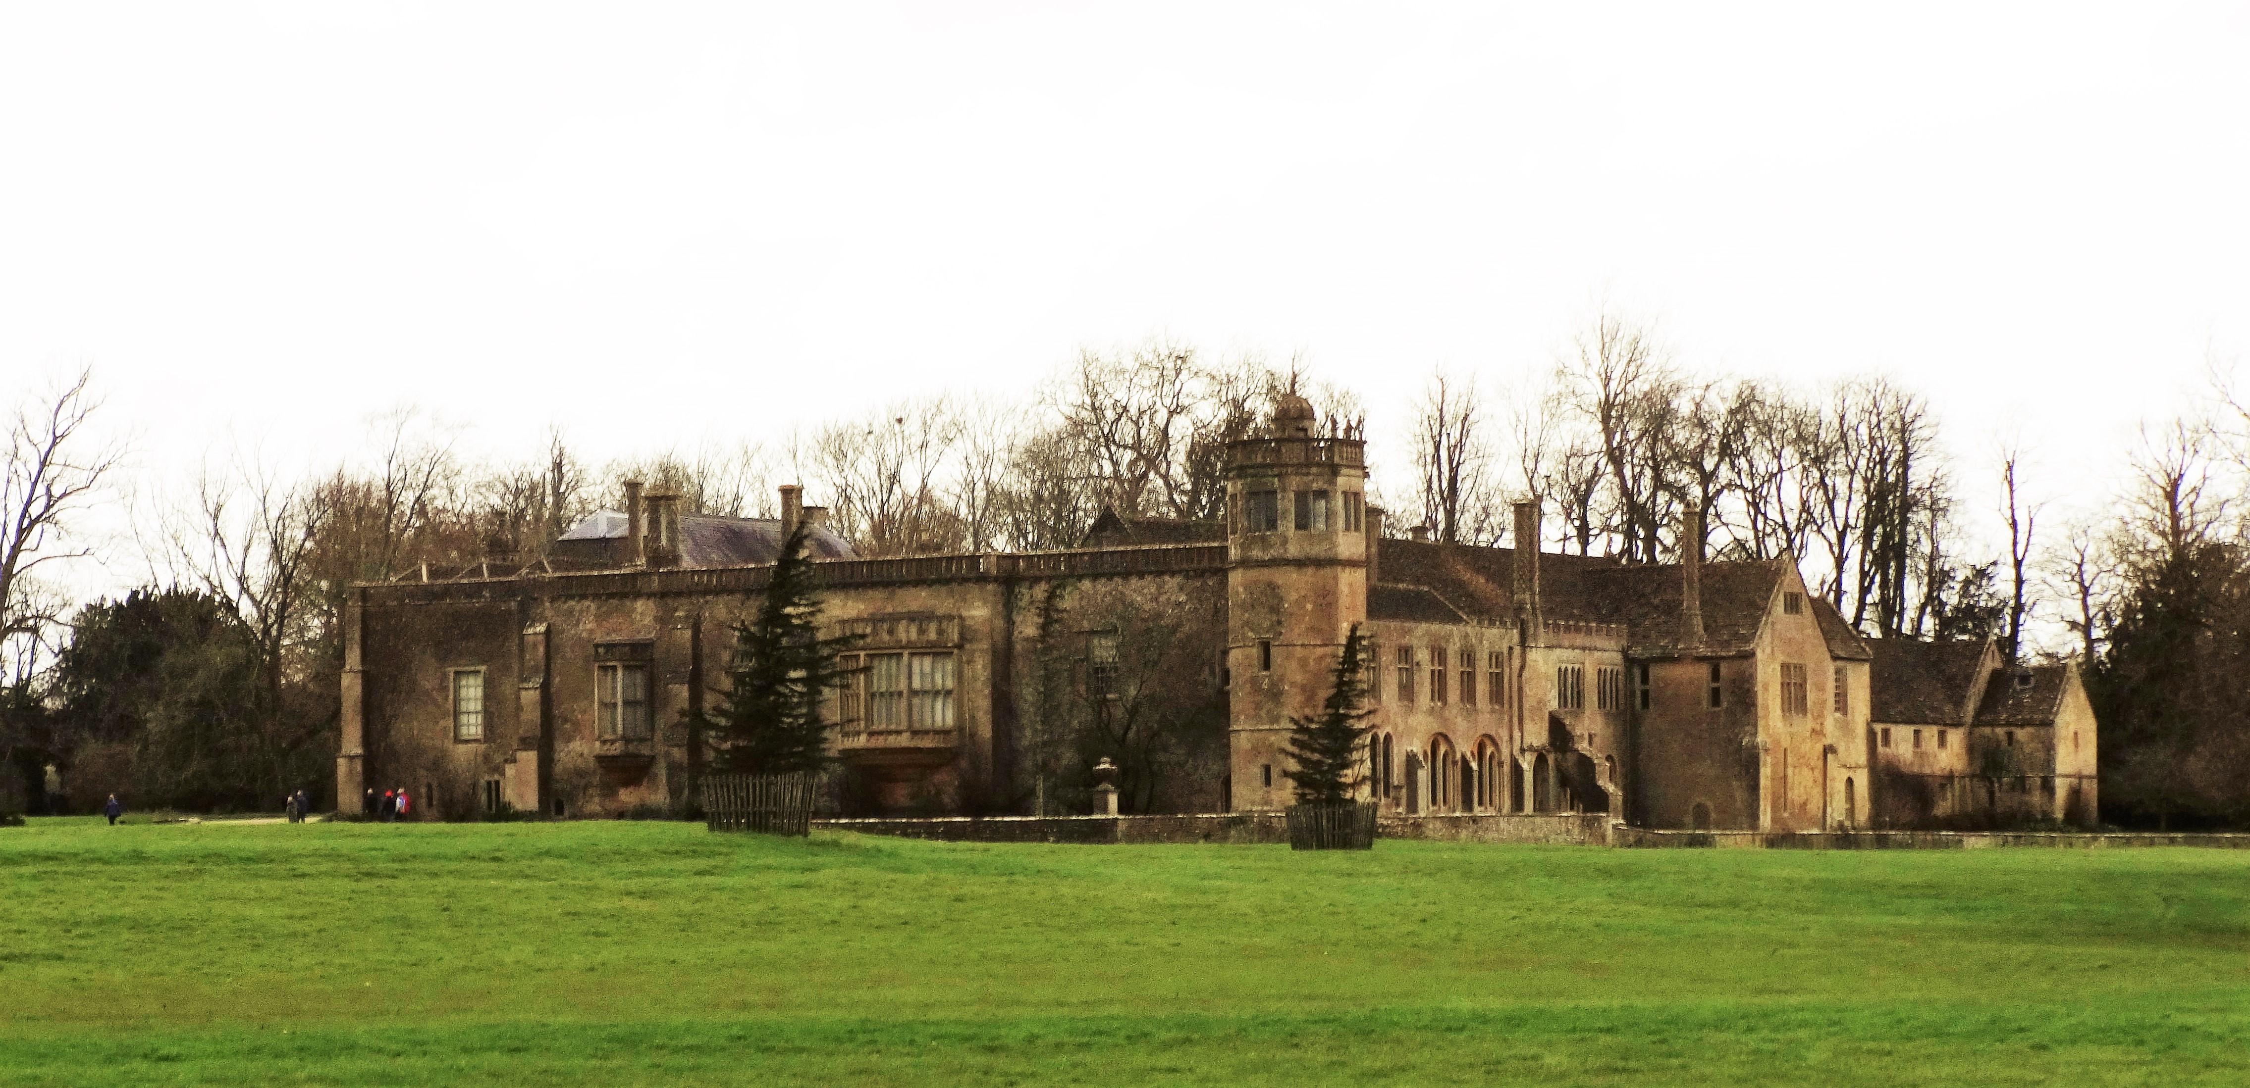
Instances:
[[[0,373],[146,465],[414,400],[596,461],[1080,344],[1382,429],[1591,299],[2084,492],[2250,344],[2243,4],[0,4]],[[1379,456],[1379,452],[1377,452]]]

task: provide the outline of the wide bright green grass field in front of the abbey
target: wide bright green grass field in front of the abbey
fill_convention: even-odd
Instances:
[[[2250,852],[0,829],[0,1084],[2250,1084]]]

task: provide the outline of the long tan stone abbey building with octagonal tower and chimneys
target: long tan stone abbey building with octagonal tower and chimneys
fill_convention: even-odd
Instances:
[[[1112,755],[1127,812],[1289,805],[1352,625],[1375,647],[1366,796],[1388,812],[1609,812],[1642,827],[1834,829],[2097,818],[2077,672],[1989,643],[1858,636],[1791,562],[1620,564],[1388,540],[1364,447],[1282,398],[1228,447],[1224,524],[1116,515],[1084,546],[862,560],[783,488],[781,519],[626,488],[531,564],[353,587],[338,796],[434,816],[680,803],[783,526],[812,519],[835,805],[1062,814]],[[1692,537],[1694,533],[1690,533]],[[1514,542],[1539,540],[1519,504]],[[1073,794],[1073,789],[1080,789]]]

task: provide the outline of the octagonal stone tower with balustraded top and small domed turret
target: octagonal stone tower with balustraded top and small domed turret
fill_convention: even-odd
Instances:
[[[1226,445],[1228,807],[1294,798],[1289,717],[1321,713],[1346,632],[1368,618],[1366,459],[1321,438],[1300,396],[1264,438]]]

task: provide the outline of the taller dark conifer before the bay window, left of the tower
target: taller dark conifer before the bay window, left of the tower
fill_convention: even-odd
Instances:
[[[821,638],[821,602],[806,557],[806,524],[774,560],[765,602],[752,623],[734,629],[734,681],[718,692],[720,706],[704,713],[704,728],[722,740],[716,762],[734,773],[778,776],[817,771],[826,760],[821,695],[844,683],[850,670],[837,654],[857,636]]]

